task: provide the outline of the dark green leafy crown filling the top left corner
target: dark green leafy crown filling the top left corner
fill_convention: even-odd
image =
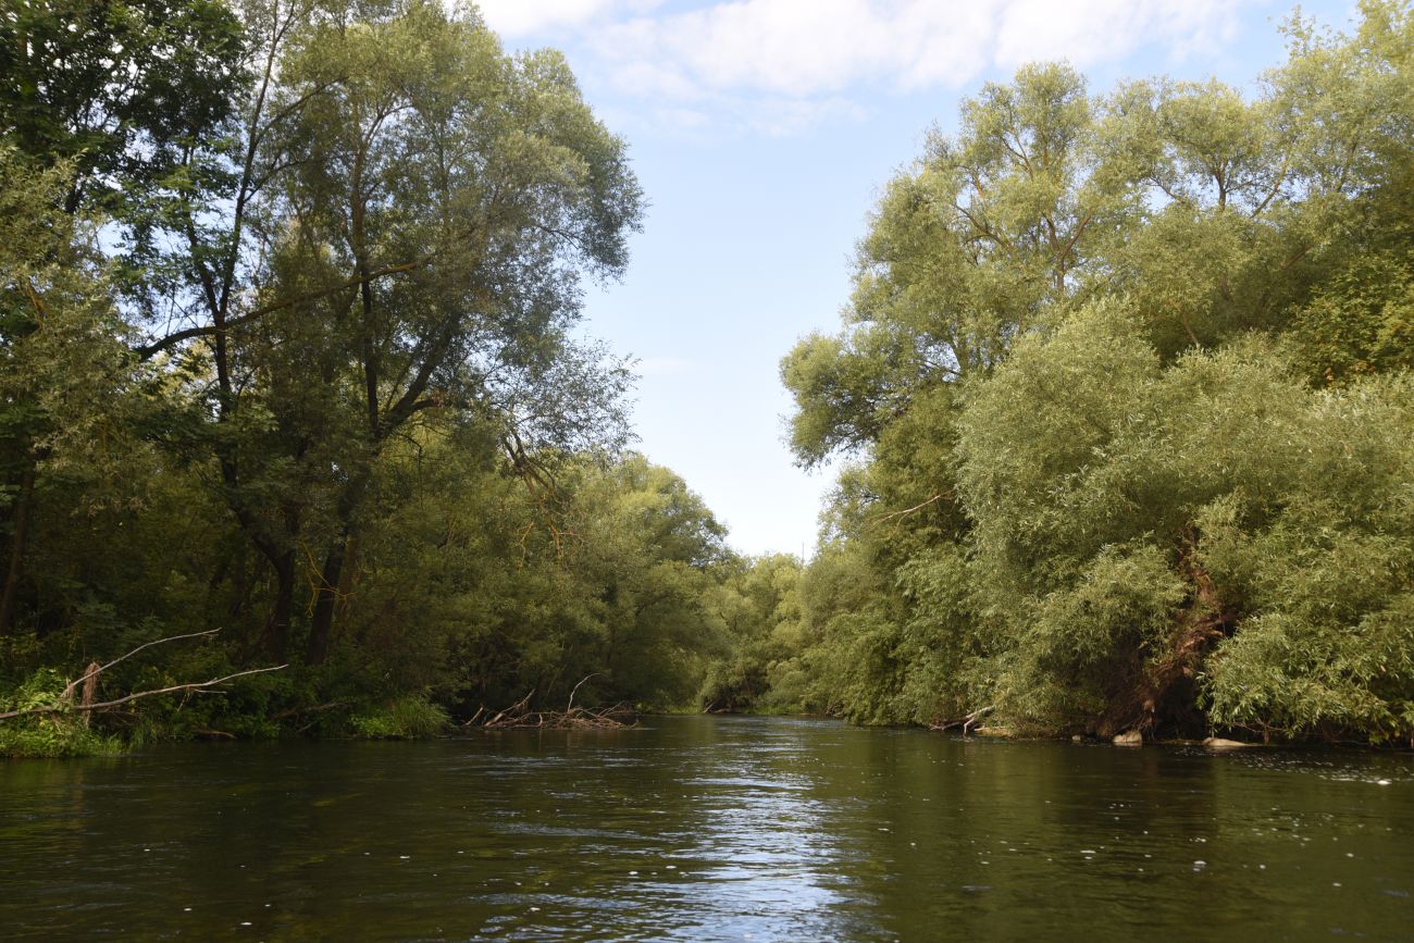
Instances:
[[[161,274],[171,201],[214,167],[245,79],[240,21],[221,0],[16,3],[0,17],[0,144],[34,168],[66,165],[66,213],[100,211],[123,274]],[[150,269],[144,269],[151,264]]]

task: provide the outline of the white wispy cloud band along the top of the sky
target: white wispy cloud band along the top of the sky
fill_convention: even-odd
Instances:
[[[484,0],[515,38],[573,27],[621,93],[665,115],[792,133],[848,115],[861,88],[957,88],[990,69],[1065,58],[1077,66],[1154,49],[1162,61],[1220,48],[1233,0]],[[563,30],[561,30],[563,31]],[[672,117],[666,119],[672,123]]]

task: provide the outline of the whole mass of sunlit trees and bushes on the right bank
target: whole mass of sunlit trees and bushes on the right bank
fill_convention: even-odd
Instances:
[[[795,697],[1414,734],[1414,14],[1360,10],[1257,99],[1022,69],[889,182],[844,328],[783,361],[799,459],[855,457]]]

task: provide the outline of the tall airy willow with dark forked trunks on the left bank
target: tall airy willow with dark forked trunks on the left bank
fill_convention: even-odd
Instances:
[[[188,324],[144,353],[214,379],[206,441],[274,575],[266,643],[286,648],[310,568],[317,663],[390,437],[495,416],[527,465],[540,443],[618,433],[625,373],[568,329],[580,280],[622,271],[641,195],[563,58],[503,54],[474,11],[270,0],[245,16],[232,182],[187,205]]]

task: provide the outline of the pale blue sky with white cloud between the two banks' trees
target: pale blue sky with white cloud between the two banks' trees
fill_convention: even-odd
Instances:
[[[1018,65],[1066,59],[1093,92],[1284,58],[1285,0],[481,0],[508,49],[566,54],[628,141],[649,202],[585,334],[638,359],[635,444],[682,475],[741,553],[810,556],[836,467],[796,467],[781,358],[834,332],[884,184]],[[1308,0],[1349,24],[1353,0]]]

